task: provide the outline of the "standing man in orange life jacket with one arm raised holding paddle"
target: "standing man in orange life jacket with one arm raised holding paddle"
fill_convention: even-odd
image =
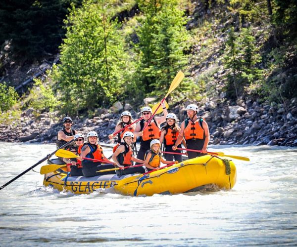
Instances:
[[[150,124],[145,128],[143,131],[144,126],[146,126],[149,118],[152,115],[151,108],[145,106],[141,110],[142,117],[144,118],[141,120],[135,128],[134,134],[140,136],[140,149],[137,153],[137,159],[144,160],[146,152],[150,149],[150,141],[153,139],[159,139],[161,130],[160,124],[166,121],[165,116],[168,114],[165,103],[162,103],[163,114],[162,117],[154,117],[152,118]],[[137,163],[139,164],[139,163]]]

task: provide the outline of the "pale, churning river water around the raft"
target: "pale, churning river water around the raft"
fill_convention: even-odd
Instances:
[[[0,143],[0,185],[55,150]],[[130,197],[43,187],[38,165],[0,191],[0,246],[296,246],[297,149],[213,146],[234,160],[230,191]],[[104,150],[111,154],[110,149]]]

